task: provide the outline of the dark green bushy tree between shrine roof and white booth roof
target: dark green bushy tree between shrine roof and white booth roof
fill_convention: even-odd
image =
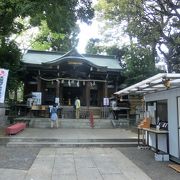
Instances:
[[[126,77],[127,85],[140,82],[160,72],[152,61],[151,51],[151,48],[142,47],[138,44],[124,47],[121,61],[125,65],[123,74]]]

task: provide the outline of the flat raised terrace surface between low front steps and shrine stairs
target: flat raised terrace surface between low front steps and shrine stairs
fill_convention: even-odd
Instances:
[[[137,139],[137,133],[128,129],[51,129],[26,128],[11,138],[58,138],[58,139]]]

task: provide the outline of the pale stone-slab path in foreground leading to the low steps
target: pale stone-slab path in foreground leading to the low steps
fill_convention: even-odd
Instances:
[[[115,148],[42,148],[29,170],[0,169],[0,180],[150,180]]]

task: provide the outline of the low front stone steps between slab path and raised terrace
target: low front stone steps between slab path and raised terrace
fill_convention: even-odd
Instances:
[[[136,147],[137,139],[9,138],[7,147]]]

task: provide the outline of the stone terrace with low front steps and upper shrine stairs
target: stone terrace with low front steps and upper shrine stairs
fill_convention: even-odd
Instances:
[[[29,128],[17,135],[0,137],[7,147],[137,147],[137,134],[113,128],[109,119],[59,119],[59,128],[51,129],[49,118],[21,119]],[[20,119],[19,119],[20,121]]]

